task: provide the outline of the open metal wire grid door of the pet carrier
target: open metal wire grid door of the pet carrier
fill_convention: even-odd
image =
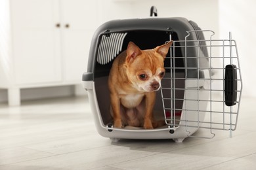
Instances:
[[[209,34],[202,39],[203,32]],[[236,41],[212,39],[213,31],[187,31],[184,41],[174,41],[169,67],[162,84],[161,97],[165,123],[170,129],[185,127],[229,130],[236,129],[242,78]],[[190,39],[196,34],[198,39]],[[180,55],[176,51],[182,51]],[[192,52],[193,51],[193,52]],[[176,54],[176,55],[175,55]],[[184,61],[175,67],[178,60]]]

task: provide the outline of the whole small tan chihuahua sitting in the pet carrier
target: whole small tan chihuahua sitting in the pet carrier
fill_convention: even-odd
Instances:
[[[152,129],[158,126],[153,109],[156,92],[165,75],[163,60],[172,43],[140,50],[129,42],[127,50],[117,56],[108,78],[114,127],[128,125]]]

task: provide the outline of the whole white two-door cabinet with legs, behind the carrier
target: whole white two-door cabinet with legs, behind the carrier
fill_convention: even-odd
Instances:
[[[3,2],[9,5],[11,31],[4,29],[0,37],[8,35],[2,42],[11,41],[11,47],[0,52],[0,64],[8,68],[0,68],[5,77],[0,88],[9,90],[9,104],[20,104],[20,88],[80,84],[98,25],[97,1]]]

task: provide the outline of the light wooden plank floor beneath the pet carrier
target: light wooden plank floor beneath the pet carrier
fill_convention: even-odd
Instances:
[[[0,169],[255,169],[256,100],[243,98],[237,130],[209,139],[121,140],[96,132],[86,97],[0,105]],[[197,135],[204,133],[198,130]]]

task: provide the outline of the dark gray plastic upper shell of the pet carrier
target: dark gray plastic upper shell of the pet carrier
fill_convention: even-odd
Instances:
[[[98,29],[96,29],[95,34],[93,35],[93,39],[91,41],[91,48],[89,51],[89,60],[87,73],[83,75],[83,80],[94,79],[93,73],[95,73],[95,65],[96,58],[98,53],[98,48],[100,45],[102,35],[110,35],[111,33],[129,33],[130,31],[165,31],[166,33],[177,34],[181,45],[184,45],[184,39],[188,33],[186,31],[193,31],[195,29],[200,29],[198,25],[194,22],[188,21],[186,18],[144,18],[144,19],[127,19],[127,20],[112,20],[110,22],[106,22]],[[192,32],[187,40],[196,40],[196,39],[204,39],[203,35],[198,35],[198,33]],[[193,42],[191,42],[193,43]],[[188,51],[190,54],[196,56],[198,50],[191,49]],[[184,50],[182,51],[184,54]],[[207,53],[206,53],[207,54]],[[207,56],[207,55],[204,55]],[[203,62],[200,61],[200,64],[207,64],[207,58],[204,59]],[[187,59],[187,67],[198,67],[198,61],[196,59]],[[192,75],[197,73],[192,73],[190,71],[191,77]]]

